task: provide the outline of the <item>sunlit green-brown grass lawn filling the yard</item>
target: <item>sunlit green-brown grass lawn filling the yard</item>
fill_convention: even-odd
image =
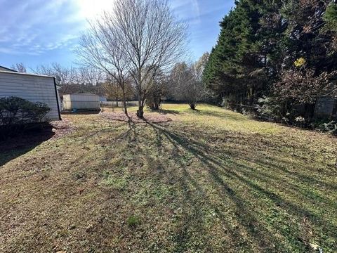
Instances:
[[[0,252],[337,252],[336,138],[197,109],[1,153]]]

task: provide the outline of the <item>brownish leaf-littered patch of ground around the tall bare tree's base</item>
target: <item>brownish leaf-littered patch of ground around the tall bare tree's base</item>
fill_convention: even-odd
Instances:
[[[165,115],[154,115],[153,113],[145,115],[144,119],[138,118],[137,115],[133,112],[129,113],[129,118],[124,114],[124,112],[102,112],[101,115],[107,119],[117,120],[121,122],[128,122],[129,119],[131,119],[131,121],[135,123],[164,123],[172,121],[171,118],[166,117]]]

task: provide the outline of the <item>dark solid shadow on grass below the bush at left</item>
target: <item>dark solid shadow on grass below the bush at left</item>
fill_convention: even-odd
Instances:
[[[0,141],[0,166],[20,157],[55,135],[51,124],[43,129],[18,134],[13,138]]]

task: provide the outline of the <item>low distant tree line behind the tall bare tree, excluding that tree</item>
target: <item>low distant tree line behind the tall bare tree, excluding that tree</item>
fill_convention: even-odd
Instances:
[[[161,102],[164,100],[185,102],[195,109],[197,104],[207,98],[211,98],[211,93],[202,83],[202,73],[207,63],[209,53],[195,63],[181,61],[173,65],[168,72],[158,72],[147,83],[147,96],[145,104],[152,110],[159,110]],[[107,100],[123,100],[121,86],[110,77],[110,75],[98,70],[95,67],[65,67],[60,63],[50,65],[39,65],[37,67],[26,67],[23,63],[11,65],[11,69],[18,72],[33,72],[34,74],[44,74],[55,77],[55,82],[60,86],[60,95],[68,93],[94,93],[98,96],[105,96]],[[137,100],[136,87],[131,79],[124,82],[126,100]]]

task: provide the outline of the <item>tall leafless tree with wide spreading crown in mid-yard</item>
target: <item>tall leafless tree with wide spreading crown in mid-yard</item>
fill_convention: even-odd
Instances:
[[[137,115],[141,118],[152,80],[159,70],[168,71],[184,55],[187,26],[175,18],[167,1],[160,0],[115,1],[113,11],[105,13],[96,23],[91,26],[91,35],[95,37],[91,37],[91,41],[97,43],[91,51],[94,55],[97,51],[107,51],[105,44],[110,41],[120,49],[120,57],[133,79],[138,96]],[[100,29],[95,28],[97,26]],[[84,47],[88,47],[87,44],[82,43]],[[115,55],[108,51],[93,61],[102,62],[102,58],[111,61]]]

